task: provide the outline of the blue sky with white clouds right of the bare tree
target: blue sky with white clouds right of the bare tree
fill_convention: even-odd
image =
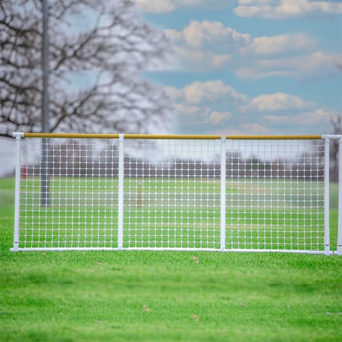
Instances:
[[[136,0],[174,44],[145,73],[175,103],[170,133],[330,133],[342,112],[342,1]]]

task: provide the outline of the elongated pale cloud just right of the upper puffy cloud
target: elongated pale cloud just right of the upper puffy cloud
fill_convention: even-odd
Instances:
[[[306,34],[284,34],[273,37],[257,37],[247,47],[240,49],[242,55],[274,55],[289,51],[303,51],[315,46],[315,40]]]

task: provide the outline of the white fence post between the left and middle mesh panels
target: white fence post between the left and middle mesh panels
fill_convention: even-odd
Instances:
[[[122,250],[124,232],[124,134],[119,135],[118,167],[118,249]]]

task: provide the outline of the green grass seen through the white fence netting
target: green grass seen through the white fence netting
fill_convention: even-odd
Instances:
[[[21,248],[118,248],[118,179],[22,179]],[[322,182],[226,182],[228,250],[324,250]],[[220,179],[124,180],[124,248],[220,250]],[[25,234],[24,234],[25,232]],[[336,240],[332,231],[332,241]]]

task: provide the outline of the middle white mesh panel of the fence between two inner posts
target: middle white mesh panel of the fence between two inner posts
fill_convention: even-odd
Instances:
[[[220,140],[127,140],[124,248],[220,249]]]

